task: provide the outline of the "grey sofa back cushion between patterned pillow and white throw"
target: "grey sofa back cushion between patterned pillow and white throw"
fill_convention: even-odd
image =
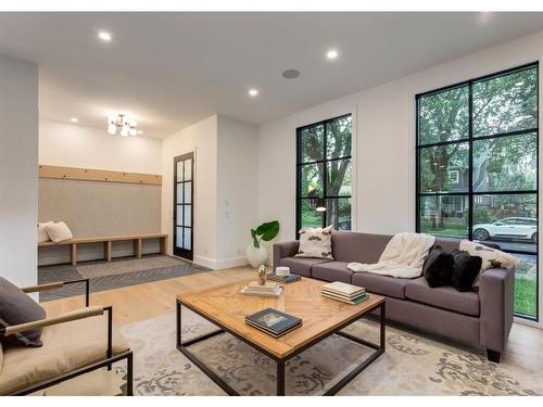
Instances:
[[[348,263],[377,263],[391,239],[388,234],[332,230],[333,258]]]

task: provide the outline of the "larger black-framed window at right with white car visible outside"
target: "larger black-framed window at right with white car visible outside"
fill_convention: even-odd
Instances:
[[[417,94],[417,231],[521,258],[515,313],[538,319],[539,65]]]

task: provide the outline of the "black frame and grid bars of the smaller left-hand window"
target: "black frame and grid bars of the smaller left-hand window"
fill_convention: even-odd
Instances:
[[[327,158],[326,157],[326,150],[327,150],[327,125],[329,123],[332,123],[332,122],[336,122],[336,120],[339,120],[341,118],[345,118],[345,117],[351,117],[351,154],[349,155],[345,155],[345,156],[341,156],[341,157],[333,157],[333,158]],[[323,160],[317,160],[317,161],[311,161],[311,162],[306,162],[304,163],[302,161],[302,154],[303,154],[303,151],[302,151],[302,131],[307,129],[307,128],[311,128],[311,127],[317,127],[317,126],[323,126],[324,129],[324,140],[323,140]],[[325,120],[320,120],[320,122],[316,122],[316,123],[312,123],[310,125],[304,125],[304,126],[301,126],[301,127],[298,127],[296,128],[296,168],[295,168],[295,171],[296,171],[296,231],[295,231],[295,239],[299,239],[300,238],[300,229],[302,228],[302,202],[304,200],[313,200],[315,198],[308,198],[308,196],[302,196],[301,195],[301,186],[302,186],[302,167],[304,165],[311,165],[311,164],[323,164],[324,165],[324,179],[323,179],[323,196],[319,196],[321,198],[325,203],[327,202],[327,200],[340,200],[340,199],[350,199],[351,200],[351,229],[352,229],[352,211],[353,211],[353,194],[351,192],[350,195],[338,195],[338,196],[328,196],[326,194],[327,192],[327,183],[328,183],[328,176],[327,176],[327,163],[329,162],[334,162],[334,161],[342,161],[342,160],[350,160],[351,161],[351,171],[353,169],[353,114],[352,113],[346,113],[346,114],[342,114],[340,116],[336,116],[336,117],[331,117],[331,118],[327,118]],[[351,173],[352,174],[352,173]],[[351,177],[351,182],[352,182],[352,177]],[[351,183],[351,188],[352,188],[352,183]],[[326,213],[323,215],[323,225],[321,227],[325,228],[327,225],[326,225]]]

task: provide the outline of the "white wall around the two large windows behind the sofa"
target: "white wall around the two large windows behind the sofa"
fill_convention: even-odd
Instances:
[[[543,31],[262,125],[258,133],[260,220],[277,218],[282,227],[279,240],[294,238],[295,128],[355,112],[355,229],[376,233],[414,231],[415,96],[536,61],[540,64],[543,61]],[[542,91],[543,66],[540,65],[540,94]],[[542,123],[543,115],[540,115],[540,127]],[[541,141],[540,149],[543,156]],[[539,188],[543,190],[543,177]],[[539,212],[543,213],[543,200],[540,200]],[[541,243],[539,250],[541,252]],[[540,279],[539,292],[540,315],[543,315],[543,279]]]

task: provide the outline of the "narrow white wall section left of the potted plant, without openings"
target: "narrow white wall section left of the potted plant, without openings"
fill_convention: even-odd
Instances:
[[[258,129],[223,115],[217,123],[217,268],[225,268],[247,264],[258,226]]]

